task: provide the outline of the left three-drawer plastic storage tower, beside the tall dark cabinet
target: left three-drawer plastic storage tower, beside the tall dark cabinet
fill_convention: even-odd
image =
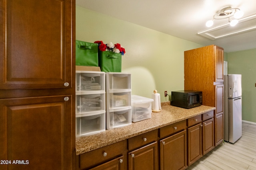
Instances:
[[[76,71],[76,137],[106,130],[105,72]]]

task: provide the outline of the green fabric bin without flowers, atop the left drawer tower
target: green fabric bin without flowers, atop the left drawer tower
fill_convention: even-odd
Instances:
[[[98,44],[76,40],[76,65],[98,66]]]

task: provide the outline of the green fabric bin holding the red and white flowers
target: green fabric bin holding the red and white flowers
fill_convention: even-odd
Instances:
[[[99,51],[99,66],[104,72],[122,72],[122,55],[111,51]]]

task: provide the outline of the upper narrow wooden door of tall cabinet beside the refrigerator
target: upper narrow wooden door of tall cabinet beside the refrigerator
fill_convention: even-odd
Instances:
[[[224,77],[223,77],[223,64],[224,64],[224,59],[223,59],[223,53],[224,50],[221,47],[214,46],[214,51],[215,51],[215,81],[216,82],[223,82]]]

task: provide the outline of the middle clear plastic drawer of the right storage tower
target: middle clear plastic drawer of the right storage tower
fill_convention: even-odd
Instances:
[[[106,93],[107,110],[131,106],[131,92]]]

